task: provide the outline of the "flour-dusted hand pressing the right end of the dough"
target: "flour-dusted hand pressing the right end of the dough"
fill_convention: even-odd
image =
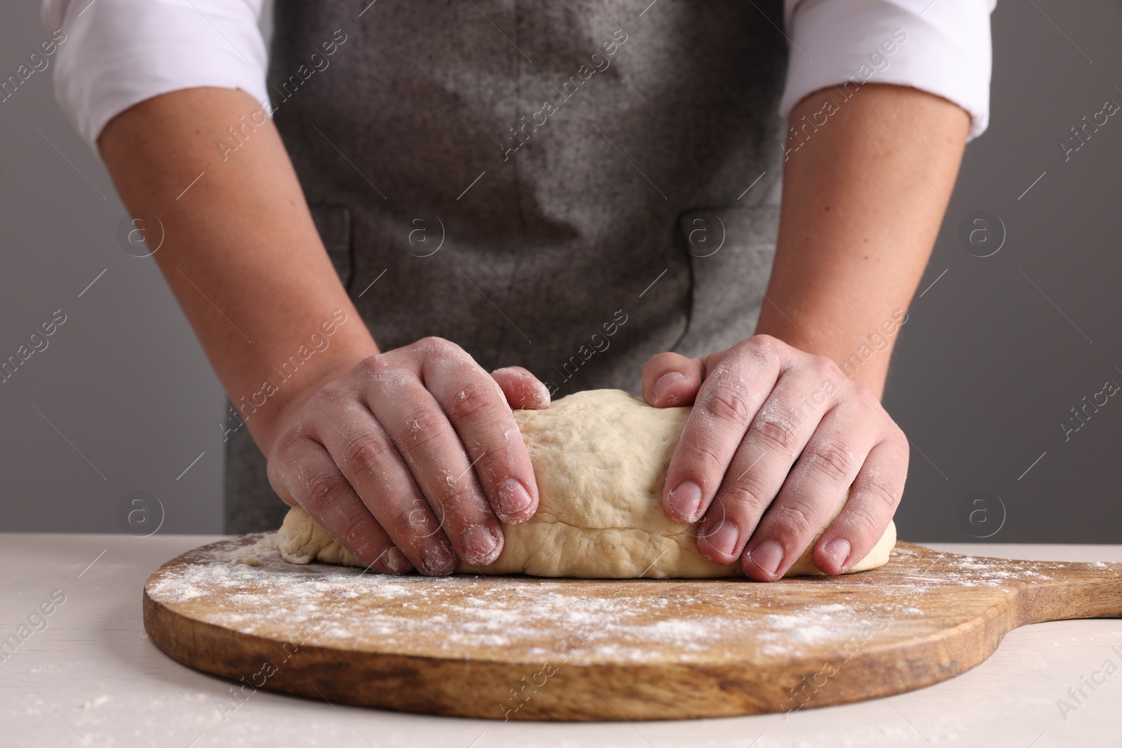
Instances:
[[[703,516],[701,553],[739,558],[752,579],[780,579],[850,484],[815,547],[826,573],[863,558],[900,502],[908,440],[825,355],[769,335],[700,359],[660,353],[643,367],[643,396],[655,407],[693,404],[666,471],[666,514]]]

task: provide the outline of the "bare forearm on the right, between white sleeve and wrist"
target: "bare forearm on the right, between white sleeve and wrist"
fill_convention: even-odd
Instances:
[[[969,117],[904,86],[865,84],[850,96],[826,89],[790,114],[799,136],[789,133],[775,264],[756,332],[829,357],[880,396]]]

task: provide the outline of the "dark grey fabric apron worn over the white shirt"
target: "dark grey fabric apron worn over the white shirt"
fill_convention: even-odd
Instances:
[[[277,0],[274,120],[381,350],[438,335],[557,398],[753,334],[782,3],[649,2]],[[285,511],[231,433],[226,532]]]

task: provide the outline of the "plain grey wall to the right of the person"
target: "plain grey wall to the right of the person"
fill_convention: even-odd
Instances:
[[[1116,2],[994,12],[991,126],[967,147],[920,290],[947,273],[912,304],[885,398],[913,443],[905,538],[987,535],[1003,505],[993,541],[1122,542],[1122,397],[1088,407],[1067,441],[1060,428],[1107,379],[1122,385],[1122,112],[1068,160],[1059,146],[1107,99],[1122,104],[1120,33]],[[959,242],[975,210],[1005,225],[992,257]],[[977,490],[1000,504],[972,505],[964,526]]]

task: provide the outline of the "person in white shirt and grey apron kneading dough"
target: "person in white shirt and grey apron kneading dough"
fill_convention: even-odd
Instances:
[[[267,481],[376,571],[489,563],[537,502],[511,408],[620,387],[695,405],[664,507],[775,580],[847,489],[828,573],[900,500],[879,398],[992,9],[277,0],[267,75],[260,0],[44,17],[230,397],[229,532]]]

